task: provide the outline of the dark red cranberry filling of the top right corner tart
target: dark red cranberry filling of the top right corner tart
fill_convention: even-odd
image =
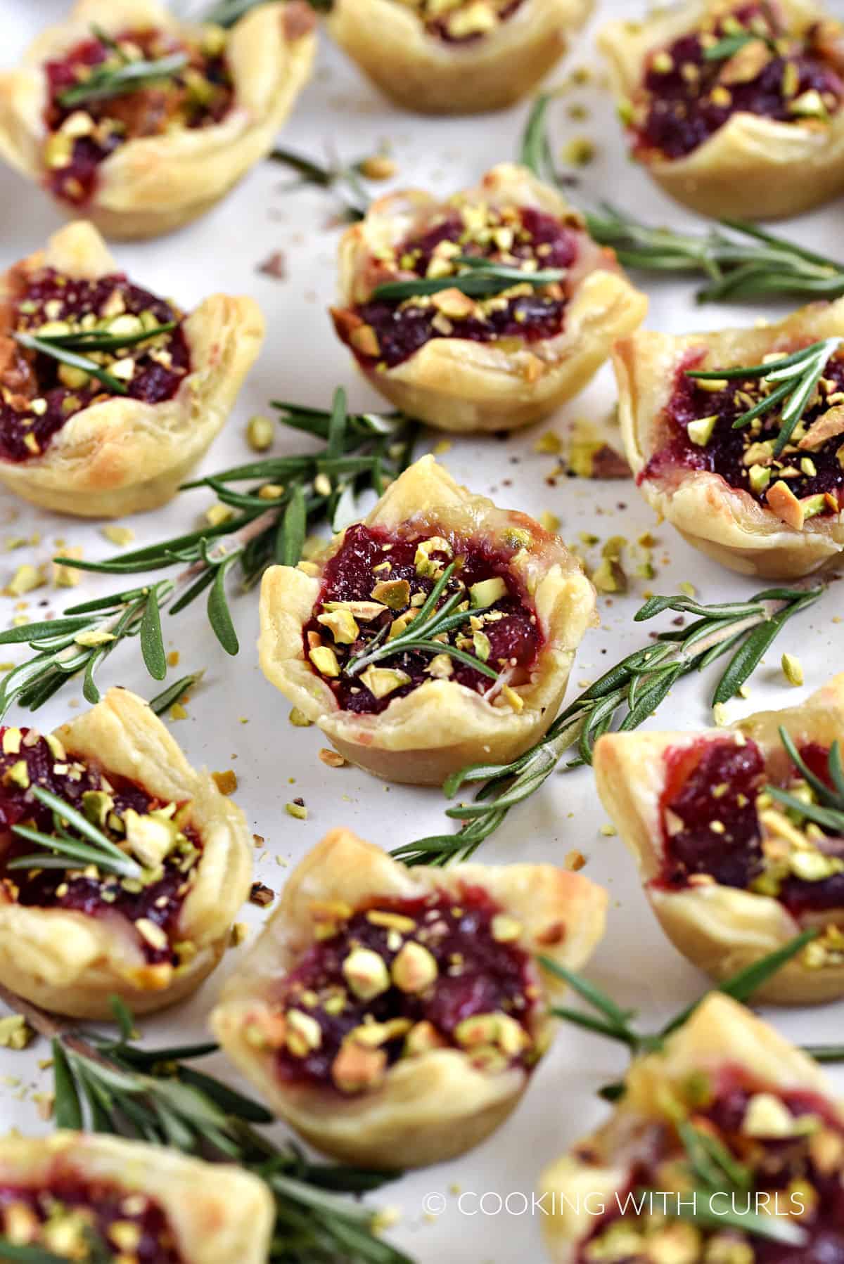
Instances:
[[[749,28],[759,24],[768,38],[785,34],[782,23],[772,24],[773,5],[742,5],[731,15]],[[723,82],[726,58],[707,59],[706,38],[724,39],[729,34],[721,20],[707,32],[693,32],[674,40],[667,49],[650,56],[644,77],[649,102],[638,129],[639,149],[657,150],[666,158],[685,158],[710,139],[734,114],[755,114],[779,123],[801,121],[798,101],[806,92],[817,92],[826,112],[840,109],[844,80],[824,59],[810,33],[806,42],[787,54],[771,49],[769,58],[747,82]],[[730,80],[730,76],[728,76]]]

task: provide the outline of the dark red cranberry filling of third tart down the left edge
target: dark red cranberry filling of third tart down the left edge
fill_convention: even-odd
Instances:
[[[0,739],[5,732],[0,728]],[[11,771],[15,766],[25,763],[27,776],[22,780],[52,791],[80,811],[84,811],[82,796],[86,791],[104,789],[102,775],[96,767],[75,760],[72,755],[62,758],[59,752],[57,757],[46,738],[34,733],[29,736],[30,731],[25,728],[20,732],[20,750],[0,755],[0,902],[10,900],[29,908],[71,909],[87,916],[119,915],[132,923],[144,919],[159,927],[168,939],[167,945],[153,947],[140,937],[146,959],[149,963],[177,964],[172,944],[178,939],[178,920],[200,856],[201,841],[196,833],[186,827],[182,833],[189,839],[189,848],[171,852],[159,875],[143,886],[116,875],[86,876],[81,870],[8,870],[6,863],[16,856],[38,851],[37,844],[13,834],[13,825],[32,823],[42,833],[53,832],[52,811],[19,784],[19,774]],[[114,799],[113,811],[118,817],[128,809],[147,815],[166,806],[143,786],[125,777],[108,774],[106,780],[108,793]],[[121,837],[113,830],[109,833],[115,841]]]

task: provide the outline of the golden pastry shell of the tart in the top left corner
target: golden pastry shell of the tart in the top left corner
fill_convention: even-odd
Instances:
[[[84,209],[61,200],[57,206],[67,215],[84,210],[101,233],[123,240],[161,236],[204,215],[272,148],[310,76],[314,24],[304,0],[262,4],[247,13],[229,33],[234,102],[225,119],[128,140],[100,164],[96,190]],[[44,30],[22,66],[0,76],[0,157],[30,179],[44,177],[43,64],[89,39],[92,25],[109,35],[182,29],[158,0],[77,0],[63,23]]]

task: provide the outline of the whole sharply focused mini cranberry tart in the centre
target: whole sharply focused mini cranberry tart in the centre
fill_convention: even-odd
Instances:
[[[499,680],[445,653],[404,653],[347,675],[385,624],[406,627],[452,561],[471,603],[456,643],[500,667]],[[475,617],[481,605],[487,613]],[[542,737],[595,622],[592,585],[557,536],[423,456],[323,554],[266,573],[258,655],[267,680],[345,758],[388,781],[440,785],[466,763],[509,762]]]

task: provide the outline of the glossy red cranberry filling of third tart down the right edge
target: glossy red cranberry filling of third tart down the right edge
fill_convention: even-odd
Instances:
[[[824,776],[828,755],[815,744],[801,750],[807,766]],[[678,890],[714,880],[776,896],[795,916],[844,908],[844,860],[838,854],[844,844],[824,836],[817,847],[811,832],[801,832],[763,796],[768,776],[755,742],[701,739],[669,748],[664,761],[664,866],[658,886]],[[792,794],[805,789],[795,780],[786,785]]]

